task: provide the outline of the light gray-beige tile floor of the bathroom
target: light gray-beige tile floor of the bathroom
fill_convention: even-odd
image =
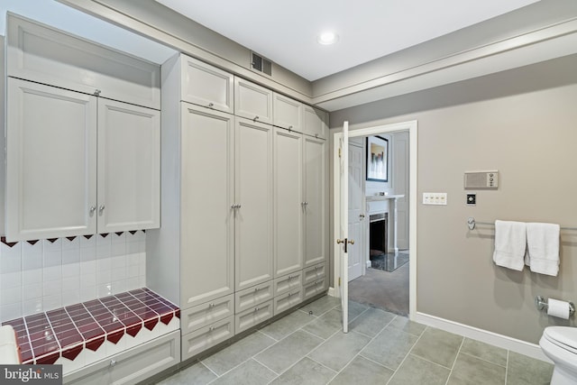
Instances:
[[[548,384],[553,365],[323,297],[160,382],[192,384]],[[309,312],[312,311],[312,315]]]

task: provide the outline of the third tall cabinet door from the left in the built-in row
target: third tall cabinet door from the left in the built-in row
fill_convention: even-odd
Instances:
[[[303,268],[302,135],[274,131],[275,278]]]

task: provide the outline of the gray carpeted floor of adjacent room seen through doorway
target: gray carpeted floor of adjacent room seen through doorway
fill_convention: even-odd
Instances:
[[[367,268],[349,282],[349,299],[408,316],[408,263],[392,272]]]

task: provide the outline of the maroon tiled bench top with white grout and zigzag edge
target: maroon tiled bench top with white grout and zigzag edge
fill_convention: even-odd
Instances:
[[[74,360],[84,348],[95,351],[105,340],[116,344],[159,322],[168,325],[180,309],[151,289],[134,289],[45,313],[24,316],[12,325],[23,363],[52,364],[60,355]]]

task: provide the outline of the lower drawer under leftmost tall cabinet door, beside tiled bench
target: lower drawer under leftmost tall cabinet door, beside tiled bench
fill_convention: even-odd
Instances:
[[[234,336],[234,316],[182,335],[182,361]]]

